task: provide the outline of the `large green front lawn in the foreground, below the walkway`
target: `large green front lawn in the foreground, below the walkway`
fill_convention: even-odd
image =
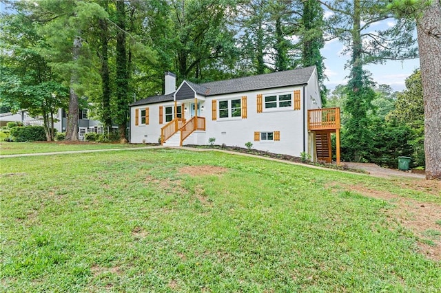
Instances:
[[[188,166],[225,173],[188,175]],[[367,175],[219,152],[0,160],[0,291],[439,292],[441,263],[336,184],[441,197]]]

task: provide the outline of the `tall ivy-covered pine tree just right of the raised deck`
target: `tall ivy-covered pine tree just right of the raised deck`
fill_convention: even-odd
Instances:
[[[351,59],[348,67],[347,102],[348,121],[342,131],[342,146],[350,152],[351,160],[363,160],[371,149],[374,133],[369,131],[367,112],[375,97],[369,72],[363,68],[369,63],[390,59],[415,58],[413,26],[399,21],[392,28],[371,32],[371,25],[392,17],[381,1],[336,0],[320,1],[334,14],[327,20],[327,31],[347,47]]]

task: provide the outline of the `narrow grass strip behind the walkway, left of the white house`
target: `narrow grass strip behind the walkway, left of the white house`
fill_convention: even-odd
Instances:
[[[63,142],[0,142],[0,155],[21,153],[51,153],[54,151],[83,151],[89,149],[124,149],[145,146],[143,144],[100,144],[81,143],[68,144]]]

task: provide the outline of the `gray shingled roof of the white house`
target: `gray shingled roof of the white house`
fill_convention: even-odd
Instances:
[[[246,76],[229,80],[212,81],[200,85],[186,80],[196,93],[203,96],[216,96],[220,94],[232,94],[241,91],[255,91],[258,89],[271,89],[275,87],[289,87],[292,85],[305,85],[308,83],[315,66],[287,70],[284,72],[274,72],[271,74],[260,74],[256,76]],[[156,102],[167,102],[173,100],[173,94],[152,96],[136,101],[130,106],[154,104]]]

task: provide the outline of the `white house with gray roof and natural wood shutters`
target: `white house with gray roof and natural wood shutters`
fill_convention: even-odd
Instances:
[[[167,72],[164,95],[130,105],[130,142],[204,145],[214,138],[215,144],[245,147],[252,142],[253,149],[295,156],[305,152],[320,159],[317,140],[323,144],[322,138],[336,130],[334,125],[319,127],[327,133],[320,135],[311,128],[311,122],[322,126],[324,115],[325,120],[334,115],[335,124],[337,115],[335,108],[311,112],[322,106],[316,67],[203,84],[184,80],[178,89],[175,80]]]

